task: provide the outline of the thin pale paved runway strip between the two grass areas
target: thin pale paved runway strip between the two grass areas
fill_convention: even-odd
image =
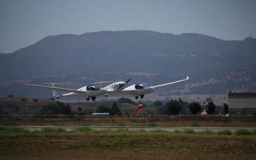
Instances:
[[[128,130],[166,130],[166,131],[174,131],[174,130],[186,130],[186,129],[193,129],[195,131],[202,131],[202,130],[231,130],[236,131],[239,129],[246,129],[246,130],[256,130],[255,127],[144,127],[144,126],[1,126],[1,127],[20,127],[24,128],[26,130],[41,130],[42,128],[62,128],[65,130],[73,130],[75,128],[81,128],[81,127],[89,127],[93,130],[105,130],[105,129],[111,129],[111,130],[117,130],[117,129],[127,129]]]

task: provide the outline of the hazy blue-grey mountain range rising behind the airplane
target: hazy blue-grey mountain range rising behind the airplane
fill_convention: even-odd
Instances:
[[[167,88],[187,94],[256,91],[255,59],[252,37],[225,41],[196,33],[152,31],[61,34],[0,54],[0,96],[17,92],[14,88],[20,81],[69,82],[77,87],[128,77],[133,78],[131,83],[160,84],[190,76],[187,88],[185,84]],[[17,95],[30,96],[30,89],[18,86],[24,91]]]

